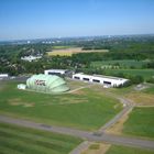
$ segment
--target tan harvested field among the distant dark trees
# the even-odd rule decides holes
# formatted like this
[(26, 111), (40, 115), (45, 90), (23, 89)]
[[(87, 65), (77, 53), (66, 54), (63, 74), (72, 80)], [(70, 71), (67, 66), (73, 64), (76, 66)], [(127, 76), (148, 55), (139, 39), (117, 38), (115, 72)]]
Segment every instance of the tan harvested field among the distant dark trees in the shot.
[(88, 50), (82, 51), (81, 47), (70, 47), (70, 48), (56, 48), (52, 52), (47, 52), (48, 56), (72, 56), (77, 53), (95, 53), (95, 52), (109, 52), (108, 50)]

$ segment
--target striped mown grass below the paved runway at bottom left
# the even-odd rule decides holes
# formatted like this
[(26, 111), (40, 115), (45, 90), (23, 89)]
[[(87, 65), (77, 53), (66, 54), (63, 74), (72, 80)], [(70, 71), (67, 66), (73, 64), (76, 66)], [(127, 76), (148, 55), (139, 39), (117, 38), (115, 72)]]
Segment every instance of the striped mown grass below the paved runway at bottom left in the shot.
[(68, 154), (80, 139), (0, 123), (1, 154)]

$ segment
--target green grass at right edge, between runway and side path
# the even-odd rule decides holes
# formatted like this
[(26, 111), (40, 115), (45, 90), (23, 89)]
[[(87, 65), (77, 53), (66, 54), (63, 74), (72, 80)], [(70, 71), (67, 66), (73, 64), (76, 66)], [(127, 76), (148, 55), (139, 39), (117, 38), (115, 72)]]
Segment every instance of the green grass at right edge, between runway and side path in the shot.
[(154, 138), (154, 108), (134, 108), (124, 123), (123, 133)]

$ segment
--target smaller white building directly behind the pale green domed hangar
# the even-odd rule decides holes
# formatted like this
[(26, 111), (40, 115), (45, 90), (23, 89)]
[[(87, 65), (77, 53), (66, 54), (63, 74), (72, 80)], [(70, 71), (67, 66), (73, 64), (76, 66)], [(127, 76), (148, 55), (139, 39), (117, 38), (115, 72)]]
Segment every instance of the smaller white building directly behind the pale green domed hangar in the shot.
[(72, 77), (73, 76), (73, 72), (68, 70), (68, 69), (47, 69), (44, 70), (45, 75), (57, 75), (57, 76), (67, 76), (67, 77)]

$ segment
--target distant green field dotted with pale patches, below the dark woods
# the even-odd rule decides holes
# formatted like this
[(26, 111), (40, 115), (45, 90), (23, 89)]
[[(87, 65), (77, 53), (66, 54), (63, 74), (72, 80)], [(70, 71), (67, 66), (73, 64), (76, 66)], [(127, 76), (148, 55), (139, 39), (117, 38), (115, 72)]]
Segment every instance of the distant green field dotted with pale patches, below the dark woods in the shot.
[(102, 62), (92, 62), (91, 66), (94, 67), (106, 67), (111, 68), (119, 66), (120, 68), (142, 68), (143, 65), (147, 64), (147, 61), (134, 61), (134, 59), (123, 59), (123, 61), (102, 61)]

